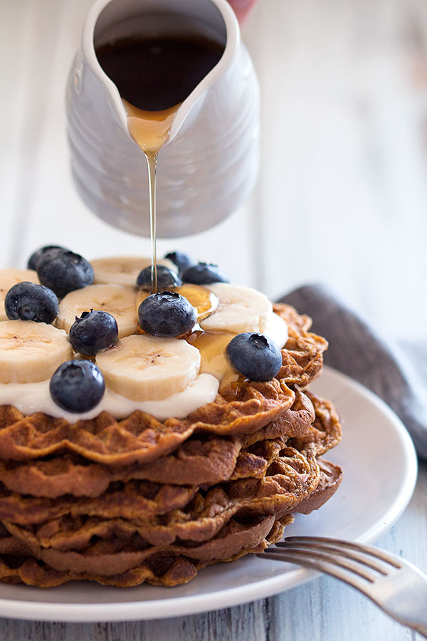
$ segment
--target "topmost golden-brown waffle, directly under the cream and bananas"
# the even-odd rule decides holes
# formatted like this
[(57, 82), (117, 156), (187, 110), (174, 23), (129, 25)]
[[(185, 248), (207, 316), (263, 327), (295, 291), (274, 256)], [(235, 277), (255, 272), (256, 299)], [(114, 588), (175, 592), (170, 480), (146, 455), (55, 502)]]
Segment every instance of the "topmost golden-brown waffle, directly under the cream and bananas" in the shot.
[(14, 407), (2, 406), (0, 457), (24, 461), (65, 450), (94, 462), (120, 466), (153, 462), (194, 432), (251, 434), (278, 419), (289, 420), (292, 426), (295, 415), (289, 410), (295, 402), (293, 386), (308, 385), (320, 372), (327, 343), (310, 333), (310, 319), (290, 306), (278, 305), (275, 311), (288, 323), (289, 338), (282, 350), (282, 368), (273, 380), (253, 382), (240, 377), (221, 387), (214, 402), (185, 419), (160, 421), (137, 411), (117, 421), (102, 412), (95, 419), (70, 423), (40, 412), (23, 416)]

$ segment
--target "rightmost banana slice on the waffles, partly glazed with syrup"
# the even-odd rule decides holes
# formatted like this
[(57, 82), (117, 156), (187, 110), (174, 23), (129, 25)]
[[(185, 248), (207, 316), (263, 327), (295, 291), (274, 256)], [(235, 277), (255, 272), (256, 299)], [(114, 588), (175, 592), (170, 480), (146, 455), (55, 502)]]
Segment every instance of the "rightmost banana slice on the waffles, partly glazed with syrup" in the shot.
[(214, 283), (209, 289), (219, 302), (216, 311), (201, 320), (206, 332), (260, 332), (273, 313), (267, 296), (251, 287)]

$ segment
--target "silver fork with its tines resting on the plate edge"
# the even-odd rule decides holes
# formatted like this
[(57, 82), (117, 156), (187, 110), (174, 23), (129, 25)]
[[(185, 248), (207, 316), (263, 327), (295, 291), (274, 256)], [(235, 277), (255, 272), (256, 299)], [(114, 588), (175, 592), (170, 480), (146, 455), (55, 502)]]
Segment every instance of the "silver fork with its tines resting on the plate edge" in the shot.
[(399, 556), (320, 536), (288, 536), (257, 556), (297, 563), (339, 578), (427, 638), (427, 576)]

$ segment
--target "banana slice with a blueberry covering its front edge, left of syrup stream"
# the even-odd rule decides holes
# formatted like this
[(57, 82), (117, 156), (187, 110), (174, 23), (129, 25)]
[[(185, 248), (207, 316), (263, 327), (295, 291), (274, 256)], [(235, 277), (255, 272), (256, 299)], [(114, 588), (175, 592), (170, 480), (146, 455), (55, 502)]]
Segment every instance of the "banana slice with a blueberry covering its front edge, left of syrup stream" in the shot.
[(89, 285), (70, 291), (60, 301), (56, 326), (69, 332), (76, 316), (84, 311), (106, 311), (117, 320), (119, 338), (137, 330), (135, 314), (135, 291), (122, 285)]

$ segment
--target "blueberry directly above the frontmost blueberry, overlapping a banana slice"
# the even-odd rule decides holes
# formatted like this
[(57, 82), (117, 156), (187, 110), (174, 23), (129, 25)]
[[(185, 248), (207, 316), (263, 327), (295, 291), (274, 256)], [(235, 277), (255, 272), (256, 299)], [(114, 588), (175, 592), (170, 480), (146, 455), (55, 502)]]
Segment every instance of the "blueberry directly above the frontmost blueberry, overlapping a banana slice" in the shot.
[(75, 352), (95, 356), (101, 350), (114, 347), (119, 340), (117, 321), (105, 311), (83, 312), (80, 318), (75, 317), (68, 339)]

